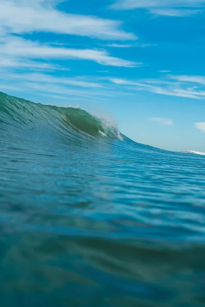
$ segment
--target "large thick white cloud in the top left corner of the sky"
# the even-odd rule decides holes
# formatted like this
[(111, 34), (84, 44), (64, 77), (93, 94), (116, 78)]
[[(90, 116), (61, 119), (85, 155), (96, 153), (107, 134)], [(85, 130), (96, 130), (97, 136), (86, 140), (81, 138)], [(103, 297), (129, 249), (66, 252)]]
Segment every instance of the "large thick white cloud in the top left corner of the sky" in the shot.
[[(8, 33), (52, 32), (100, 39), (135, 39), (135, 35), (120, 29), (116, 20), (95, 16), (66, 14), (50, 0), (1, 0), (1, 29)], [(1, 32), (0, 29), (0, 32)]]

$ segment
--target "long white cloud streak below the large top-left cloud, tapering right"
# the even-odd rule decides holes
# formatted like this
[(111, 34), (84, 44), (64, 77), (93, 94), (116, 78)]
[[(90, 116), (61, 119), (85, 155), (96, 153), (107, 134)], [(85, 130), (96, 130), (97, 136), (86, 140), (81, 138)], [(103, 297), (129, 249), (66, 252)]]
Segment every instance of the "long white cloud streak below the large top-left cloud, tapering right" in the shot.
[(112, 57), (105, 50), (71, 49), (53, 47), (17, 36), (0, 40), (0, 57), (13, 59), (81, 59), (95, 61), (101, 65), (134, 67), (137, 63)]

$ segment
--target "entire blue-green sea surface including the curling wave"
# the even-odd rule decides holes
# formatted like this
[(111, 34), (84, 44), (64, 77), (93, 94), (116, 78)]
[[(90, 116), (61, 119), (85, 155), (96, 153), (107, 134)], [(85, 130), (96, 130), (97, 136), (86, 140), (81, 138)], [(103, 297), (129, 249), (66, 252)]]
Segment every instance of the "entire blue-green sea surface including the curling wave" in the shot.
[(0, 93), (1, 306), (201, 306), (205, 160)]

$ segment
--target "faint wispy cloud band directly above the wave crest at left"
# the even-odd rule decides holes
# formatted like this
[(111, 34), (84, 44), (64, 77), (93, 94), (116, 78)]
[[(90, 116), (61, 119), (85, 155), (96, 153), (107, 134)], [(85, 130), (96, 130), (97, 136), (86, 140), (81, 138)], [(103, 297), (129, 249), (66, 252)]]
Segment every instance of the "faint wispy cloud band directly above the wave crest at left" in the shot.
[[(52, 72), (51, 72), (52, 73)], [(39, 96), (73, 101), (108, 101), (127, 93), (109, 86), (95, 76), (57, 77), (48, 72), (19, 73), (0, 71), (0, 91), (33, 93)]]

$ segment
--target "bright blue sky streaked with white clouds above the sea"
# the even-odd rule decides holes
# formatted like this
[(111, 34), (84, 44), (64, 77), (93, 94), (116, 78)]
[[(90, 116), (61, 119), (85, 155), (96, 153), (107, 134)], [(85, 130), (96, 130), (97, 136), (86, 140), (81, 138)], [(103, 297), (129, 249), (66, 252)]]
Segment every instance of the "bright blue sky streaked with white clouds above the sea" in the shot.
[(205, 151), (205, 0), (1, 0), (0, 91)]

